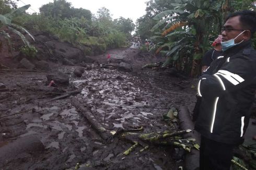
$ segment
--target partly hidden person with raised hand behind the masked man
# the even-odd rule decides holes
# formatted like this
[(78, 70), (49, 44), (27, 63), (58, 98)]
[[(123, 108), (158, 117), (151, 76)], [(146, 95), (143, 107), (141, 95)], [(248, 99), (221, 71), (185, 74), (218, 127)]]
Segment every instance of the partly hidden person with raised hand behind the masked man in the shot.
[(210, 66), (213, 60), (217, 59), (222, 55), (222, 35), (218, 35), (218, 38), (213, 42), (212, 46), (214, 47), (212, 50), (209, 50), (205, 53), (202, 60), (202, 73)]

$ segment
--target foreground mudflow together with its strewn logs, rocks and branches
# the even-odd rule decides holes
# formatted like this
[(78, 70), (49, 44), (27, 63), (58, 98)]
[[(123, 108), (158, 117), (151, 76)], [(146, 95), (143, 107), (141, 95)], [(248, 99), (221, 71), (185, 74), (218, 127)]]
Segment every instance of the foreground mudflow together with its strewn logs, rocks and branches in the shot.
[[(162, 114), (175, 105), (170, 101), (176, 98), (189, 103), (187, 96), (159, 88), (154, 77), (139, 77), (144, 76), (141, 73), (133, 75), (91, 64), (77, 76), (74, 73), (77, 67), (61, 66), (51, 72), (4, 72), (1, 87), (15, 91), (0, 93), (1, 134), (4, 134), (1, 143), (8, 147), (11, 141), (32, 135), (44, 147), (11, 157), (2, 168), (183, 166), (184, 153), (178, 154), (189, 151), (187, 142), (192, 140), (182, 140), (180, 133), (186, 131), (178, 132), (178, 128), (165, 122)], [(168, 86), (179, 89), (169, 83)], [(177, 155), (173, 155), (174, 151)], [(22, 156), (23, 161), (18, 159)]]

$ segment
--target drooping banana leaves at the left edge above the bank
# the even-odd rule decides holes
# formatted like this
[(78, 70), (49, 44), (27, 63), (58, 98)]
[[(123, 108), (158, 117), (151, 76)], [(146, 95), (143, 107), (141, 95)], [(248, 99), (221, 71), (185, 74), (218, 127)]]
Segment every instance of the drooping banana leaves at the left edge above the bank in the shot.
[[(17, 35), (19, 35), (19, 37), (21, 38), (21, 40), (24, 42), (25, 45), (30, 47), (30, 43), (29, 41), (26, 39), (26, 37), (24, 36), (24, 34), (22, 34), (21, 32), (25, 32), (29, 35), (29, 37), (34, 41), (33, 36), (23, 27), (15, 24), (12, 22), (12, 19), (16, 16), (21, 15), (22, 13), (24, 13), (28, 8), (30, 7), (30, 5), (25, 5), (22, 6), (18, 9), (15, 9), (13, 11), (11, 11), (8, 14), (5, 15), (0, 15), (0, 22), (1, 22), (1, 28), (0, 28), (0, 33), (4, 34), (5, 37), (8, 39), (9, 41), (9, 34), (7, 32), (5, 32), (5, 28), (7, 28), (8, 30), (16, 33)], [(21, 32), (20, 32), (21, 31)]]

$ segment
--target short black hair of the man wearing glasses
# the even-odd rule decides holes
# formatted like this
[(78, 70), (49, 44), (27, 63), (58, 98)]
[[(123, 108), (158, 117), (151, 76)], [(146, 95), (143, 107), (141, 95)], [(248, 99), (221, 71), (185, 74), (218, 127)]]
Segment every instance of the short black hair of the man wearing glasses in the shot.
[(256, 31), (256, 13), (255, 11), (252, 10), (242, 10), (238, 11), (236, 13), (230, 14), (226, 21), (229, 18), (240, 16), (239, 20), (242, 23), (242, 26), (244, 29), (250, 30), (251, 31), (251, 36), (255, 33)]

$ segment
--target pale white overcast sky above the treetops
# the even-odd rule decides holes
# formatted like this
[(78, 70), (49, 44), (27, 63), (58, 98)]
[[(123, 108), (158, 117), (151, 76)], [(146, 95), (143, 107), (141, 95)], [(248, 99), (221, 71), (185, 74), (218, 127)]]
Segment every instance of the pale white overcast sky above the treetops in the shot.
[[(146, 4), (149, 0), (66, 0), (70, 2), (75, 8), (84, 8), (91, 11), (92, 14), (96, 14), (98, 9), (106, 7), (109, 9), (113, 19), (119, 17), (131, 18), (135, 23), (139, 17), (146, 14)], [(27, 10), (28, 13), (39, 13), (39, 8), (53, 2), (53, 0), (19, 0), (17, 2), (18, 7), (30, 4), (31, 7)]]

